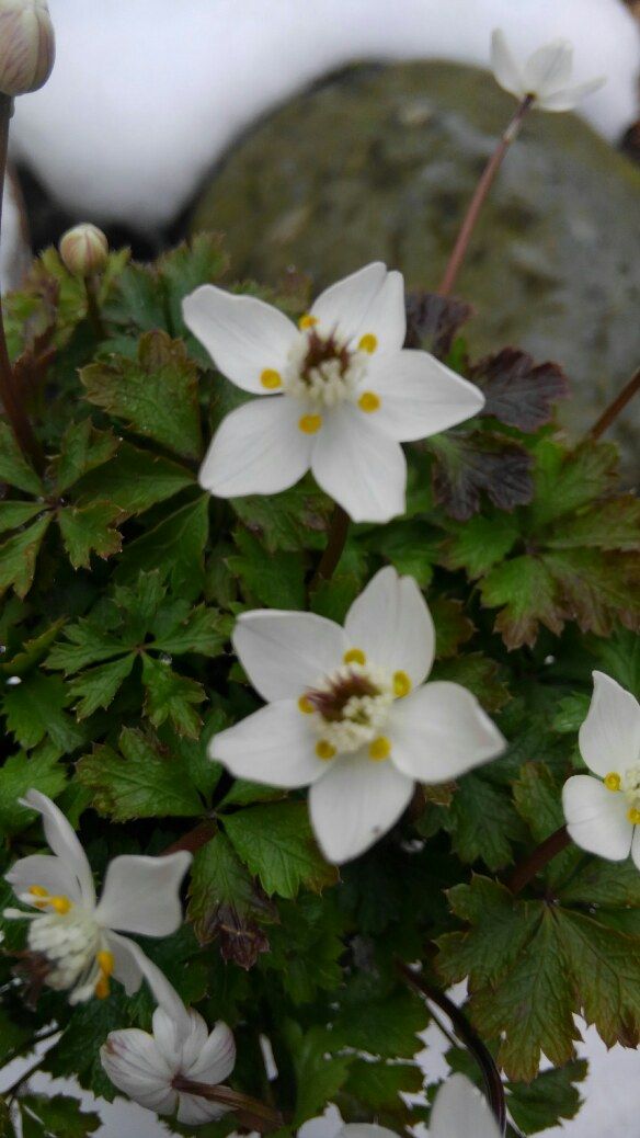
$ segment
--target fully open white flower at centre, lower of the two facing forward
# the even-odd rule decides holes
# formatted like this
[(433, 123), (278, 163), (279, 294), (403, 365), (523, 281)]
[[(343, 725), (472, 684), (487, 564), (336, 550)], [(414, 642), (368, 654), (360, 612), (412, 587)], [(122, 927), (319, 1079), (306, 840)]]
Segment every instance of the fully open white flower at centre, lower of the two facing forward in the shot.
[(233, 644), (268, 704), (216, 735), (209, 754), (241, 778), (310, 784), (330, 861), (348, 861), (387, 833), (416, 780), (446, 782), (504, 748), (466, 688), (424, 684), (433, 622), (415, 580), (391, 567), (357, 597), (344, 628), (310, 612), (246, 612)]

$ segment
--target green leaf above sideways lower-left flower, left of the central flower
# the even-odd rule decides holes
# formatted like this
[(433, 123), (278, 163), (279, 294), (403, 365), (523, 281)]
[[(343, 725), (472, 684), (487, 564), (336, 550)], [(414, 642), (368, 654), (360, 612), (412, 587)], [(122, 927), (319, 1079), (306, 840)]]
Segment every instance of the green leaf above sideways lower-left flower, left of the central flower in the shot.
[(200, 795), (180, 757), (130, 727), (120, 732), (118, 747), (119, 754), (110, 747), (95, 747), (77, 764), (77, 776), (92, 791), (99, 814), (128, 822), (202, 813)]

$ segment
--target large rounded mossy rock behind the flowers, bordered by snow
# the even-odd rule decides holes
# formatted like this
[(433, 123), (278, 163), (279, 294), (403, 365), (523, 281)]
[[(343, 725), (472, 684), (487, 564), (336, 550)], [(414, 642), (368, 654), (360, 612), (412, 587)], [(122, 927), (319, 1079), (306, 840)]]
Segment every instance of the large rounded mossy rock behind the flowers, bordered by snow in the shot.
[[(435, 289), (514, 101), (450, 64), (355, 67), (271, 115), (226, 157), (192, 228), (226, 234), (235, 274), (314, 289), (380, 257)], [(573, 115), (532, 114), (487, 203), (457, 291), (474, 353), (563, 363), (588, 428), (640, 355), (640, 172)], [(630, 452), (627, 412), (617, 437)], [(638, 417), (635, 417), (638, 422)]]

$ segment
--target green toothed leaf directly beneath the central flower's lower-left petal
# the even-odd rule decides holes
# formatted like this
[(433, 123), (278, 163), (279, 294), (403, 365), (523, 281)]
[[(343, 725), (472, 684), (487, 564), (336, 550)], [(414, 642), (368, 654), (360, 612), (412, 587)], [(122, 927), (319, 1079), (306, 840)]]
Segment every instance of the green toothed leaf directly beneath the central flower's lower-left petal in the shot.
[(293, 898), (301, 885), (315, 892), (338, 881), (315, 843), (301, 802), (255, 806), (224, 818), (233, 847), (271, 897)]

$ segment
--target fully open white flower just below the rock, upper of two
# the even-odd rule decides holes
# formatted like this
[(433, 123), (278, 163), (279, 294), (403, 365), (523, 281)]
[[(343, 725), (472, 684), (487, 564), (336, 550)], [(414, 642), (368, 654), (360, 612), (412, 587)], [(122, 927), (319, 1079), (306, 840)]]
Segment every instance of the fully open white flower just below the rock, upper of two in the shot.
[(276, 494), (310, 468), (354, 521), (389, 521), (405, 511), (400, 443), (484, 405), (433, 356), (402, 351), (402, 277), (380, 263), (323, 292), (299, 328), (213, 284), (188, 296), (183, 311), (219, 371), (264, 396), (227, 415), (214, 437), (200, 483), (217, 497)]

